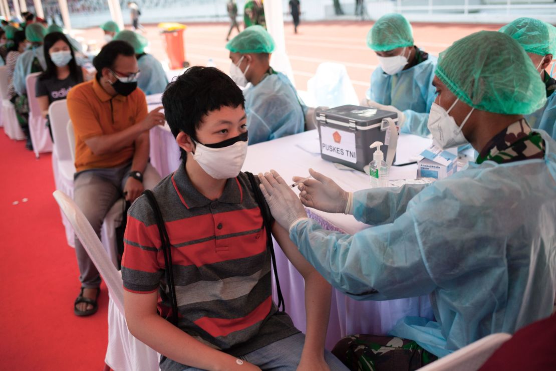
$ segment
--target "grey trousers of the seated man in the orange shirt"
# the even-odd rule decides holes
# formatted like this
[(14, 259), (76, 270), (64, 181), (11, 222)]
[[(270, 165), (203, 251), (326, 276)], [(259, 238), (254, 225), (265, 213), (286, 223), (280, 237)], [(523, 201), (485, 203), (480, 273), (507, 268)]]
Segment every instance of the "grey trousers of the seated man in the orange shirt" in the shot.
[[(131, 163), (112, 169), (92, 169), (78, 172), (73, 180), (73, 200), (79, 206), (93, 230), (100, 238), (102, 221), (112, 205), (122, 197)], [(151, 164), (143, 174), (143, 186), (152, 189), (160, 181), (160, 175)], [(75, 238), (75, 254), (79, 266), (81, 286), (97, 288), (101, 284), (98, 270), (81, 241)]]

